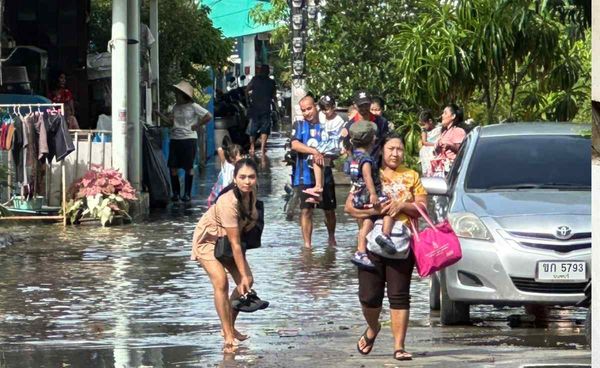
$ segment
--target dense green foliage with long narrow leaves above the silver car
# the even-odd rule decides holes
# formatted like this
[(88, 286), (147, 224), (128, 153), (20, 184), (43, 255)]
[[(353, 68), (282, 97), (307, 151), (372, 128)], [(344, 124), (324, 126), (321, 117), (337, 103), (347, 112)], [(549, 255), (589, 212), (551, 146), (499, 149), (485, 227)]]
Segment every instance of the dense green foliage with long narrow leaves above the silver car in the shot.
[[(289, 51), (287, 2), (272, 3), (255, 19), (281, 22), (275, 40)], [(307, 40), (316, 94), (349, 102), (364, 88), (384, 97), (396, 119), (457, 102), (484, 124), (589, 121), (589, 0), (321, 3)]]

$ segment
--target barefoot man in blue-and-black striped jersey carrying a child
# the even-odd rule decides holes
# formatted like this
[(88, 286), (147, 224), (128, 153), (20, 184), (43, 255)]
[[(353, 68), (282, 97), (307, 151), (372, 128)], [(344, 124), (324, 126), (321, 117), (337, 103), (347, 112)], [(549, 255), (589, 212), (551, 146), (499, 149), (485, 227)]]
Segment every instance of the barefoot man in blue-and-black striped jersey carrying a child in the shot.
[[(300, 110), (302, 110), (303, 121), (294, 123), (292, 129), (292, 150), (298, 153), (294, 165), (293, 186), (300, 189), (300, 226), (302, 227), (302, 237), (306, 248), (312, 247), (313, 230), (313, 210), (315, 204), (307, 202), (310, 195), (303, 192), (304, 189), (312, 188), (315, 185), (315, 177), (312, 168), (308, 162), (309, 156), (317, 165), (323, 165), (325, 159), (323, 154), (317, 151), (317, 145), (321, 141), (321, 124), (319, 124), (319, 112), (315, 100), (311, 96), (306, 96), (300, 100)], [(316, 205), (317, 208), (325, 212), (325, 225), (329, 234), (328, 243), (331, 246), (336, 245), (335, 241), (335, 183), (331, 167), (325, 167), (324, 185), (321, 202)]]

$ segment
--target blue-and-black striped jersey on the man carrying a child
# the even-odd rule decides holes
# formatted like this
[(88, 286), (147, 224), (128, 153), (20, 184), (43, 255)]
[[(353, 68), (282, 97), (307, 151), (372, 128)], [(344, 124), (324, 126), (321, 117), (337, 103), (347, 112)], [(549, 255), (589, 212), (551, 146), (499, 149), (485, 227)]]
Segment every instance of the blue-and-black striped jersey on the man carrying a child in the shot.
[[(310, 123), (306, 120), (296, 121), (292, 128), (292, 141), (299, 141), (308, 147), (316, 148), (321, 142), (322, 126), (320, 123)], [(308, 165), (310, 155), (300, 153), (296, 155), (294, 165), (293, 186), (315, 184), (314, 173)]]

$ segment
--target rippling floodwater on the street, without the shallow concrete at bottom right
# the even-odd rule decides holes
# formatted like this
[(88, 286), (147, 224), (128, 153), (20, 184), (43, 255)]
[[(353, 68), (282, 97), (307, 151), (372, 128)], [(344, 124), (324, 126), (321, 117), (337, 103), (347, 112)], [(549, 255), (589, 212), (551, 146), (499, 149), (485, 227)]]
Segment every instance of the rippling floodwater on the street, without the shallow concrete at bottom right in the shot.
[[(281, 147), (283, 141), (275, 143)], [(283, 213), (290, 168), (282, 157), (283, 149), (276, 148), (259, 158), (266, 227), (263, 247), (249, 251), (248, 258), (259, 295), (272, 304), (262, 313), (240, 316), (239, 329), (252, 335), (241, 352), (223, 356), (212, 287), (189, 260), (194, 227), (206, 210), (206, 203), (196, 199), (130, 226), (4, 228), (20, 241), (0, 249), (0, 359), (5, 360), (0, 366), (247, 366), (260, 362), (256, 351), (286, 349), (279, 336), (360, 325), (356, 269), (349, 262), (356, 223), (340, 208), (338, 246), (328, 247), (322, 212), (316, 211), (315, 246), (304, 249), (297, 217), (285, 221)], [(215, 166), (197, 176), (196, 198), (206, 198)], [(337, 188), (339, 203), (346, 192), (346, 187)], [(411, 323), (439, 324), (435, 314), (430, 318), (427, 280), (415, 277), (412, 293)], [(584, 317), (578, 310), (568, 311), (556, 319)], [(507, 319), (513, 314), (524, 311), (472, 308), (476, 325), (491, 329), (490, 336), (501, 336), (497, 341), (526, 344), (510, 339)], [(475, 341), (468, 337), (473, 330), (464, 330), (466, 344)], [(547, 335), (541, 329), (535, 333)], [(569, 339), (532, 341), (546, 346)]]

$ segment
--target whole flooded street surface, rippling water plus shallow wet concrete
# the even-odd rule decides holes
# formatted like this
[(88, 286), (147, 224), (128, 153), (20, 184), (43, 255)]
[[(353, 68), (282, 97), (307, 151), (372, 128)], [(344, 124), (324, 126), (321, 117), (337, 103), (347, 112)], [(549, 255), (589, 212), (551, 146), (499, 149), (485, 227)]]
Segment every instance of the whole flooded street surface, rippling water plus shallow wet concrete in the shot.
[[(248, 259), (255, 289), (271, 306), (240, 316), (238, 329), (252, 338), (235, 356), (221, 352), (212, 287), (189, 260), (206, 210), (201, 198), (217, 174), (211, 162), (197, 177), (191, 205), (155, 211), (141, 223), (0, 229), (14, 240), (0, 247), (0, 367), (395, 366), (388, 325), (372, 354), (356, 352), (364, 329), (349, 262), (356, 224), (340, 208), (338, 246), (330, 248), (317, 212), (314, 249), (302, 249), (297, 218), (286, 221), (283, 213), (290, 169), (281, 163), (282, 139), (273, 140), (269, 157), (260, 160), (263, 247)], [(347, 190), (337, 188), (338, 202)], [(397, 365), (589, 365), (584, 313), (553, 309), (542, 325), (515, 324), (526, 320), (523, 308), (477, 306), (473, 326), (442, 328), (429, 311), (428, 280), (415, 275), (407, 337), (415, 360)]]

